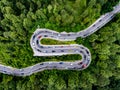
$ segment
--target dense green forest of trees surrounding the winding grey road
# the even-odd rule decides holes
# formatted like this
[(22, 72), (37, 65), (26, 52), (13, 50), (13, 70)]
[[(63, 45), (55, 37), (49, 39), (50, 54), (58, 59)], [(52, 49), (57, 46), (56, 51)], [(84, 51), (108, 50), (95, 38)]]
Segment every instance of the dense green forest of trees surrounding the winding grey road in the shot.
[[(118, 2), (0, 0), (0, 63), (22, 68), (43, 61), (81, 59), (79, 55), (34, 57), (31, 35), (38, 25), (58, 32), (78, 32), (111, 11)], [(57, 41), (50, 43), (53, 42)], [(90, 49), (92, 62), (87, 69), (46, 70), (28, 77), (0, 73), (0, 90), (120, 90), (120, 14), (91, 36), (72, 42)]]

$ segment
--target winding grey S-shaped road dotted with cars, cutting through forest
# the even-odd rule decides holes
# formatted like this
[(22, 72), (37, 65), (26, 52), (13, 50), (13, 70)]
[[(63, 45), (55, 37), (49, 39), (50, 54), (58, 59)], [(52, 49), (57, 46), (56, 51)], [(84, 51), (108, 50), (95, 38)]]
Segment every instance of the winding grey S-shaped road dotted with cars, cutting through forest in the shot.
[(59, 70), (83, 70), (86, 69), (91, 62), (91, 53), (88, 48), (83, 45), (72, 44), (72, 45), (43, 45), (40, 40), (43, 38), (51, 38), (59, 41), (71, 41), (76, 40), (76, 38), (85, 38), (114, 18), (114, 16), (120, 12), (120, 5), (116, 5), (114, 10), (102, 15), (98, 20), (96, 20), (91, 26), (77, 33), (67, 33), (67, 32), (56, 32), (53, 30), (41, 28), (37, 29), (30, 39), (30, 45), (33, 49), (34, 56), (61, 56), (67, 54), (80, 54), (82, 56), (81, 60), (75, 62), (42, 62), (29, 66), (22, 69), (13, 68), (10, 66), (5, 66), (0, 64), (0, 72), (4, 74), (14, 75), (14, 76), (29, 76), (33, 73), (40, 72), (43, 70), (59, 69)]

